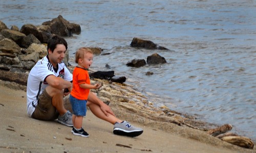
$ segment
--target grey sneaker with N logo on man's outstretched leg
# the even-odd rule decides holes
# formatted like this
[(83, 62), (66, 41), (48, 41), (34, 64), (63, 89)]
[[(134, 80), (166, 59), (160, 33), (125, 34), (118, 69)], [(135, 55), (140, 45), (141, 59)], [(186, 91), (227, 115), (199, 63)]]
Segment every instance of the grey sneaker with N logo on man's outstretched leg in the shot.
[(115, 135), (137, 137), (143, 133), (143, 130), (140, 129), (139, 127), (131, 125), (127, 121), (122, 121), (121, 123), (116, 122), (114, 124), (113, 133)]

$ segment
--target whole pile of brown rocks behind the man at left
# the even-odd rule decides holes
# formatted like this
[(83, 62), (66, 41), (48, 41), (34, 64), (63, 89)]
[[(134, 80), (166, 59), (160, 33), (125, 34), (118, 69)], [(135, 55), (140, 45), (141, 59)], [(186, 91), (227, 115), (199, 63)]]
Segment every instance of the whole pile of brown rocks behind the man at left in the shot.
[[(61, 15), (38, 26), (24, 24), (20, 30), (16, 25), (9, 29), (0, 21), (0, 63), (5, 69), (30, 70), (38, 59), (47, 55), (46, 43), (52, 35), (67, 37), (80, 33), (79, 24), (70, 23)], [(68, 64), (68, 53), (66, 57)]]

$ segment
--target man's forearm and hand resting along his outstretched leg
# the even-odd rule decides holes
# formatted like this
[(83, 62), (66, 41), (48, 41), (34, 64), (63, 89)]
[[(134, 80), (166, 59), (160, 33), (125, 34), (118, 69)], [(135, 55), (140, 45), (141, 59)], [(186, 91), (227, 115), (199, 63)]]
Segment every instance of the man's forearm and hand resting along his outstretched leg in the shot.
[(103, 101), (101, 101), (96, 94), (94, 94), (93, 92), (89, 92), (88, 95), (88, 101), (90, 101), (91, 103), (94, 103), (96, 105), (98, 105), (101, 109), (101, 111), (106, 115), (109, 116), (109, 114), (112, 114), (113, 116), (115, 116), (115, 114), (112, 112), (112, 110), (110, 109), (110, 107), (108, 105), (106, 105), (105, 103), (103, 103)]

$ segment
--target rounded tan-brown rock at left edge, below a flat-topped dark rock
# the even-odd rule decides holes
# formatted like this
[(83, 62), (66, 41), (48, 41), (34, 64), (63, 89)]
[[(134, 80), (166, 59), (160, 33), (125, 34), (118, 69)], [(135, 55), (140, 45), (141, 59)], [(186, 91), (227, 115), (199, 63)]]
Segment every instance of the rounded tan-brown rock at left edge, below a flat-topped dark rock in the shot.
[(20, 53), (20, 47), (13, 40), (9, 38), (4, 38), (3, 40), (0, 40), (0, 50), (3, 53), (8, 53), (8, 54)]

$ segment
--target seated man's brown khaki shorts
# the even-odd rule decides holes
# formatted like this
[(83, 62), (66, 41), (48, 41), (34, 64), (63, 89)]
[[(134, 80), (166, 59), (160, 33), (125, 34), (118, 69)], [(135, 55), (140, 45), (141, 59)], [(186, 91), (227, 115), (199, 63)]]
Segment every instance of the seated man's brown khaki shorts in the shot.
[[(72, 112), (69, 95), (63, 97), (63, 105), (65, 109)], [(43, 91), (39, 95), (35, 111), (31, 117), (39, 120), (55, 120), (58, 118), (58, 115), (58, 111), (52, 105), (52, 97), (46, 92), (46, 90)]]

